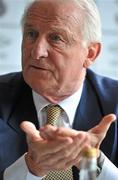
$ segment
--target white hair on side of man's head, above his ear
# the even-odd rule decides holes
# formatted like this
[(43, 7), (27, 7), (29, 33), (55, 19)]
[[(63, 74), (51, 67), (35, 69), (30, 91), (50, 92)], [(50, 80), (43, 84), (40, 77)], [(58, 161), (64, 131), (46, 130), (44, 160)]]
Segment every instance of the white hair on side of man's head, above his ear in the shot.
[[(101, 42), (101, 19), (98, 7), (94, 0), (76, 0), (79, 10), (82, 11), (83, 26), (81, 25), (81, 35), (85, 41)], [(81, 22), (81, 21), (80, 21)]]

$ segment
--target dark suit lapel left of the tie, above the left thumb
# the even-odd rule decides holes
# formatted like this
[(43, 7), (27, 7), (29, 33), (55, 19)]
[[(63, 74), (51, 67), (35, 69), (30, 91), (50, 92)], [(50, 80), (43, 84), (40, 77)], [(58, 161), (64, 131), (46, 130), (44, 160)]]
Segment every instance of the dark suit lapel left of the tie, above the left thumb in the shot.
[(20, 94), (17, 95), (14, 105), (12, 105), (12, 112), (9, 116), (8, 124), (17, 132), (21, 132), (20, 123), (24, 120), (33, 122), (35, 126), (39, 128), (32, 91), (25, 83), (22, 84)]

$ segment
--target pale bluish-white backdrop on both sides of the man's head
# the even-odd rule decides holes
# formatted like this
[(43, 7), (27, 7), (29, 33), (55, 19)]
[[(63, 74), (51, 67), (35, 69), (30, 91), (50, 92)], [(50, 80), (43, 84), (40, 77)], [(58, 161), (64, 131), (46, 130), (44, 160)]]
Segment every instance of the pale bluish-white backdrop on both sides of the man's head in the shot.
[[(0, 74), (21, 70), (20, 19), (31, 0), (0, 0)], [(118, 0), (96, 0), (102, 18), (103, 49), (92, 66), (118, 79)]]

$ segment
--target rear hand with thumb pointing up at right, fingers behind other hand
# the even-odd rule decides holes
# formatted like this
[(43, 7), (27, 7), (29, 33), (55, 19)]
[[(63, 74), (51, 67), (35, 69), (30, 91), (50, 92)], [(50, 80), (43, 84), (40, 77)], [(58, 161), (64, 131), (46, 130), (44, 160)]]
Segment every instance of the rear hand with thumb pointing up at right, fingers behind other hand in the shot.
[[(81, 153), (82, 151), (84, 151), (86, 147), (91, 146), (98, 149), (98, 157), (99, 157), (100, 145), (103, 139), (105, 138), (111, 123), (114, 122), (115, 120), (116, 120), (115, 114), (106, 115), (102, 118), (101, 122), (97, 126), (93, 127), (88, 132), (76, 131), (76, 130), (67, 129), (64, 127), (55, 128), (53, 126), (46, 125), (45, 127), (40, 129), (40, 134), (42, 138), (44, 139), (46, 138), (53, 139), (53, 138), (56, 138), (57, 136), (72, 137), (73, 138), (72, 145), (76, 146), (75, 155), (77, 154), (75, 158), (76, 161), (73, 163), (75, 163), (75, 165), (79, 168)], [(81, 141), (81, 146), (80, 145), (77, 146), (77, 142), (76, 142), (77, 137), (78, 137), (78, 143), (80, 143)], [(72, 163), (71, 161), (68, 162), (68, 164), (71, 164), (71, 163)]]

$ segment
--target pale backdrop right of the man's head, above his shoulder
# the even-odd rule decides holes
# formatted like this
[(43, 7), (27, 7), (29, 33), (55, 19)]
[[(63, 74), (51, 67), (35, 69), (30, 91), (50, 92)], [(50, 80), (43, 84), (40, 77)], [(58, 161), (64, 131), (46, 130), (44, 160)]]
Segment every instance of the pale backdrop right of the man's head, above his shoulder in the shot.
[(103, 47), (92, 68), (118, 79), (118, 0), (97, 0), (97, 4), (102, 19)]

